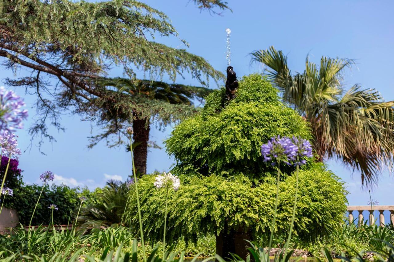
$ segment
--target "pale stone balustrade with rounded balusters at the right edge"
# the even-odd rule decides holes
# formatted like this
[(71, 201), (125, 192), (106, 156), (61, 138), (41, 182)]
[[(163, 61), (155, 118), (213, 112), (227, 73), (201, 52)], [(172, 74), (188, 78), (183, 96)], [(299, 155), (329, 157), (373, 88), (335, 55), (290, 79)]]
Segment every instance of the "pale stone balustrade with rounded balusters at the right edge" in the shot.
[(359, 217), (359, 225), (361, 224), (361, 221), (363, 220), (364, 216), (362, 215), (363, 211), (368, 211), (369, 212), (369, 224), (375, 224), (377, 219), (375, 220), (374, 217), (374, 211), (379, 212), (379, 225), (381, 227), (385, 226), (385, 216), (383, 212), (387, 210), (390, 212), (390, 221), (391, 224), (394, 225), (394, 206), (348, 206), (348, 212), (349, 212), (349, 222), (353, 222), (354, 220), (354, 215), (353, 211), (358, 211), (358, 217)]

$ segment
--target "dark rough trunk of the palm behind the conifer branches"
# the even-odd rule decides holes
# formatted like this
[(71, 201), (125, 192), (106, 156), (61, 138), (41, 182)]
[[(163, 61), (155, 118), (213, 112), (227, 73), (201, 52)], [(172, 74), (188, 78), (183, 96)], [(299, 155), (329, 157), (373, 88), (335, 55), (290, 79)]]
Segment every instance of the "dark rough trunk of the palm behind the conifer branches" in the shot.
[(147, 154), (149, 141), (149, 119), (133, 120), (133, 139), (134, 143), (138, 143), (134, 148), (134, 164), (136, 165), (136, 172), (144, 175), (147, 173)]

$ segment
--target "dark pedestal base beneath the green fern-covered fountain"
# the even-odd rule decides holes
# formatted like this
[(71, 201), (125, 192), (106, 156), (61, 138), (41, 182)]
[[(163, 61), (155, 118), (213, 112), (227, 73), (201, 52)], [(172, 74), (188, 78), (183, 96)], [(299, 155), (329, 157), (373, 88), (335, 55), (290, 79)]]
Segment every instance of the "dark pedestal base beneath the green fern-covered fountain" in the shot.
[(220, 232), (219, 236), (216, 236), (216, 254), (222, 258), (232, 258), (230, 253), (233, 253), (246, 260), (248, 255), (246, 247), (249, 246), (249, 243), (245, 240), (252, 240), (249, 230), (245, 232), (245, 228), (239, 227), (237, 230), (231, 229), (227, 233), (226, 223), (225, 229)]

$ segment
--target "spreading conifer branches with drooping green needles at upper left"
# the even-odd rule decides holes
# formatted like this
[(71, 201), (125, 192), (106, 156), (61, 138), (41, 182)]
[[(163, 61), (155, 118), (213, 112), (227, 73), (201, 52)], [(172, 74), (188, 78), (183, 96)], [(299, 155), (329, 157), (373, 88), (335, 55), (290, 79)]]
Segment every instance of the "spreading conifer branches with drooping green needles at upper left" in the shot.
[[(130, 100), (130, 95), (118, 95), (97, 84), (111, 67), (123, 68), (130, 79), (135, 79), (136, 69), (152, 79), (167, 75), (171, 81), (189, 74), (205, 87), (210, 79), (223, 79), (202, 57), (154, 42), (155, 37), (169, 36), (178, 37), (169, 18), (134, 0), (0, 2), (3, 65), (14, 70), (23, 66), (32, 73), (7, 79), (7, 84), (24, 86), (37, 96), (42, 118), (30, 133), (49, 140), (54, 137), (48, 134), (46, 122), (62, 129), (60, 115), (65, 110), (103, 120), (100, 124), (108, 130), (104, 136), (119, 132), (119, 125), (101, 119), (103, 111), (97, 106), (102, 102), (115, 108)], [(180, 44), (188, 46), (182, 39)], [(112, 120), (116, 122), (117, 116)]]

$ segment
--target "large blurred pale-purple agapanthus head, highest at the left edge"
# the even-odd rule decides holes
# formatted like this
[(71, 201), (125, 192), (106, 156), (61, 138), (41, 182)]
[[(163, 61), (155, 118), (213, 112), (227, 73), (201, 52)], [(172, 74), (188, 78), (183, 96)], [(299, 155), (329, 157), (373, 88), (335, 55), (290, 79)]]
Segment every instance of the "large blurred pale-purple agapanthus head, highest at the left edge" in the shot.
[(23, 99), (13, 91), (0, 87), (0, 131), (23, 128), (22, 120), (28, 117)]

